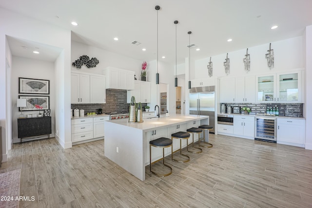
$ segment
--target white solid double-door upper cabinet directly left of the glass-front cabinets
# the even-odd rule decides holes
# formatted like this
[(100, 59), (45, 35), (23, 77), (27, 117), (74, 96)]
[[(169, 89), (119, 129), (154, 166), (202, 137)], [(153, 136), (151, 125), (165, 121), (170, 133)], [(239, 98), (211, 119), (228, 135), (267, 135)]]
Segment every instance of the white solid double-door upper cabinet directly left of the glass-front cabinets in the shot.
[(235, 78), (235, 103), (255, 102), (255, 77)]

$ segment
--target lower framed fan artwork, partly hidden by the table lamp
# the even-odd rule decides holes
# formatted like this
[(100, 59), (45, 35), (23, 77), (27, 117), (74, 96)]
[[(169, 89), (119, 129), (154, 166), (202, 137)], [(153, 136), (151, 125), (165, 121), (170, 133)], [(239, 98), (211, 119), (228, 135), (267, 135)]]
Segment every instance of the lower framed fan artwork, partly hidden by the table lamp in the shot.
[(47, 110), (50, 105), (50, 96), (36, 96), (36, 95), (20, 95), (19, 98), (26, 99), (26, 107), (20, 107), (19, 111), (25, 110)]

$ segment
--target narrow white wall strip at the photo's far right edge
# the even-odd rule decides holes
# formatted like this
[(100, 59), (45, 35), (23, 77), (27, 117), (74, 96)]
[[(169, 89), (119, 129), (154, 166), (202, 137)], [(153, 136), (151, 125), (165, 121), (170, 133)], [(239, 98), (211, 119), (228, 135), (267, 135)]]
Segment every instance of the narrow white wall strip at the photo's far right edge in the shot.
[(312, 150), (312, 25), (306, 27), (306, 47), (305, 47), (305, 61), (306, 61), (306, 97), (305, 97), (305, 115), (306, 117), (306, 149)]

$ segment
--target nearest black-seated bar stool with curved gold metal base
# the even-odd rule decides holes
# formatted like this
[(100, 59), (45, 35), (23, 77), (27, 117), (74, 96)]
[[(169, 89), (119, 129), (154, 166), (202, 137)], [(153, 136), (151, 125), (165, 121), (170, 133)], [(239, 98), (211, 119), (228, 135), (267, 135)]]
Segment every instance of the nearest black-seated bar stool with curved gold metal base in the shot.
[[(162, 158), (160, 158), (159, 160), (154, 161), (153, 163), (152, 163), (152, 152), (151, 152), (152, 146), (162, 148)], [(168, 138), (165, 138), (165, 137), (160, 137), (160, 138), (158, 138), (156, 140), (150, 141), (150, 172), (153, 173), (154, 175), (160, 176), (160, 177), (164, 177), (164, 176), (168, 176), (168, 175), (170, 175), (172, 173), (171, 166), (168, 166), (168, 165), (165, 164), (165, 148), (166, 147), (170, 147), (170, 146), (172, 146), (172, 140), (168, 139)], [(152, 171), (152, 164), (160, 161), (161, 159), (162, 159), (162, 164), (164, 166), (170, 168), (170, 172), (169, 173), (158, 174), (158, 173)]]

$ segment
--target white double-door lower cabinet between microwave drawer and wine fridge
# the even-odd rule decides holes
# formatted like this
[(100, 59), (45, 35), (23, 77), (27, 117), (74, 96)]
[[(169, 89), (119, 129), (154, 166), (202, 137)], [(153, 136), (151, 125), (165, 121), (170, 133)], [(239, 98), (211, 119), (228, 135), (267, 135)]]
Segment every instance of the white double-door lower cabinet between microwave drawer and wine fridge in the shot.
[(254, 139), (254, 116), (234, 116), (233, 134)]

